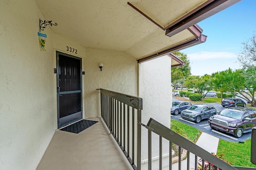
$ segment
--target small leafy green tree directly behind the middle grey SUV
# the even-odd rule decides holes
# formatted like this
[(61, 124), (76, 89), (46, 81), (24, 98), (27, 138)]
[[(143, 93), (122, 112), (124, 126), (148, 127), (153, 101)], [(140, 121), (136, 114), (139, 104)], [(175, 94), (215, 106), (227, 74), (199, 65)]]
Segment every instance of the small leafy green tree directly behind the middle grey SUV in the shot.
[(208, 91), (213, 89), (211, 76), (205, 74), (204, 76), (189, 76), (186, 78), (184, 84), (187, 88), (194, 89), (198, 94), (205, 95)]

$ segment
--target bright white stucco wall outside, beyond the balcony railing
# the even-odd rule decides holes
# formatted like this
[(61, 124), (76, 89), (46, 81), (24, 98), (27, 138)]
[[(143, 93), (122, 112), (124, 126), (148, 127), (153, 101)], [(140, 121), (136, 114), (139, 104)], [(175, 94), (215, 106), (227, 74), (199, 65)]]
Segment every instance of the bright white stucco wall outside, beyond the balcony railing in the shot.
[[(170, 128), (170, 108), (172, 102), (171, 59), (160, 57), (140, 64), (140, 91), (143, 98), (142, 123), (147, 124), (150, 118)], [(141, 159), (148, 158), (148, 129), (142, 127)], [(169, 142), (163, 139), (162, 154), (169, 153)], [(159, 156), (159, 136), (152, 133), (152, 158)], [(163, 160), (163, 164), (168, 157)], [(148, 164), (142, 164), (147, 169)], [(159, 168), (159, 160), (152, 162), (152, 169)]]

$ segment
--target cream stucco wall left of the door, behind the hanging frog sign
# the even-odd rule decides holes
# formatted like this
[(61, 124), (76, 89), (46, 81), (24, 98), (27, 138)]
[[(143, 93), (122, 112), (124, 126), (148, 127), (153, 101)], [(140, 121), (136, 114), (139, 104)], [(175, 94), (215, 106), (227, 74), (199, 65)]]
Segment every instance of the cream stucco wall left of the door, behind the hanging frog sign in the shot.
[(33, 170), (56, 127), (52, 33), (41, 51), (34, 0), (1, 1), (0, 16), (0, 169)]

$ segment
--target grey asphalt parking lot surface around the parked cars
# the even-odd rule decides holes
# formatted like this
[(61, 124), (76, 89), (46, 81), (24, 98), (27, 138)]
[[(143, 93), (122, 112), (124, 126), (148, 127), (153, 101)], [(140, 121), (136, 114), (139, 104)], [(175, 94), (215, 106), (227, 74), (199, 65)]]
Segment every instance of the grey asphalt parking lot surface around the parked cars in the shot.
[[(172, 101), (177, 101), (175, 98), (172, 98)], [(193, 104), (193, 103), (192, 103)], [(208, 103), (208, 105), (212, 105), (216, 108), (217, 111), (222, 111), (223, 109), (225, 109), (225, 107), (222, 107), (221, 104), (218, 103)], [(232, 141), (232, 142), (244, 142), (247, 139), (251, 138), (251, 132), (249, 133), (244, 133), (242, 135), (242, 137), (240, 138), (236, 138), (233, 135), (228, 135), (228, 134), (224, 134), (224, 133), (220, 133), (218, 131), (214, 131), (210, 128), (210, 125), (208, 125), (208, 119), (206, 120), (202, 120), (200, 123), (194, 123), (191, 121), (187, 121), (184, 120), (180, 117), (180, 114), (178, 115), (171, 115), (171, 119), (175, 119), (177, 121), (180, 121), (182, 123), (185, 123), (187, 125), (190, 125), (192, 127), (195, 127), (197, 129), (199, 129), (200, 131), (203, 131), (205, 133), (208, 133), (210, 135), (213, 135), (215, 137), (218, 137), (220, 139), (224, 139), (226, 141)], [(172, 125), (172, 121), (171, 121), (171, 125)]]

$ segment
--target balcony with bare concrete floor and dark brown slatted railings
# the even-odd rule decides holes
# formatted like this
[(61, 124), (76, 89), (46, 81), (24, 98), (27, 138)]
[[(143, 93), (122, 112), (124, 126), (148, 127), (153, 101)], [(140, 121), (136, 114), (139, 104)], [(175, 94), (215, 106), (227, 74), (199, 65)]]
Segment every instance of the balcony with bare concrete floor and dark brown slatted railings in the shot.
[[(218, 168), (222, 170), (256, 169), (230, 166), (154, 119), (150, 119), (148, 124), (144, 125), (141, 123), (141, 98), (104, 89), (100, 89), (100, 91), (102, 118), (90, 119), (98, 121), (98, 123), (78, 134), (57, 130), (37, 170), (143, 169), (141, 168), (141, 128), (148, 129), (147, 160), (152, 160), (152, 133), (159, 137), (159, 155), (163, 155), (163, 141), (168, 141), (170, 144), (170, 153), (172, 152), (172, 143), (178, 145), (179, 150), (182, 148), (187, 150), (186, 160), (181, 160), (182, 153), (179, 152), (179, 162), (175, 166), (170, 163), (171, 155), (168, 156), (167, 166), (166, 160), (163, 160), (162, 156), (158, 156), (158, 169), (172, 170), (174, 167), (175, 170), (197, 169), (197, 162), (200, 158), (214, 164), (213, 168), (210, 167), (209, 170)], [(148, 161), (147, 164), (148, 169), (152, 169), (152, 161)], [(202, 164), (203, 166), (207, 165), (204, 161)]]

